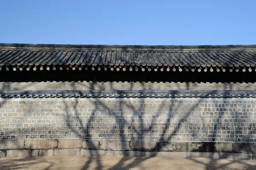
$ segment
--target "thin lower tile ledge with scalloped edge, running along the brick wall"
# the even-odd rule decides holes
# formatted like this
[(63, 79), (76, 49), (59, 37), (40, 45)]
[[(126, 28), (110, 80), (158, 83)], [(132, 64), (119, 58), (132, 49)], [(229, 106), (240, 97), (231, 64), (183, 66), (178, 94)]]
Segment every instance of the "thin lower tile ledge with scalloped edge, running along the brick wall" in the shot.
[(0, 98), (256, 98), (255, 90), (0, 91)]

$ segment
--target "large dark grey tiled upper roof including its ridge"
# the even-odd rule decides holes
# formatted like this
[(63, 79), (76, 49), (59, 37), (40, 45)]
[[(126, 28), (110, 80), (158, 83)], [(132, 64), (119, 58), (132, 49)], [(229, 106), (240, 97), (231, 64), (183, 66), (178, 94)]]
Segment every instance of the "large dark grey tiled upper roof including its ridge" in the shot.
[(110, 46), (0, 43), (0, 66), (255, 67), (256, 45)]

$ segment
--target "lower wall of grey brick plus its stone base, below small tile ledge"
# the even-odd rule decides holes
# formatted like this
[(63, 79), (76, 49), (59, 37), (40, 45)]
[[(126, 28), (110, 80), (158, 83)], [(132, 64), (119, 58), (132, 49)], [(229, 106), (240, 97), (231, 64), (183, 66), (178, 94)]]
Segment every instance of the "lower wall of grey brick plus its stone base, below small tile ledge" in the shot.
[(0, 153), (253, 158), (255, 112), (254, 98), (1, 98)]

